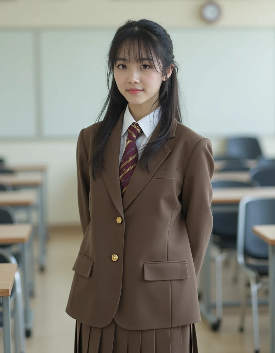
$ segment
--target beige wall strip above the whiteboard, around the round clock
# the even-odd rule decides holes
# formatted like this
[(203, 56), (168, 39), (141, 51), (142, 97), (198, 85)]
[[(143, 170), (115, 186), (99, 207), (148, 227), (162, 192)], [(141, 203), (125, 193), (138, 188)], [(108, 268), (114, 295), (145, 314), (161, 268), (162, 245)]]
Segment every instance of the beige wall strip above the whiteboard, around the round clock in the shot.
[[(129, 18), (150, 18), (169, 27), (209, 26), (199, 0), (5, 0), (0, 27), (116, 27)], [(274, 0), (220, 0), (214, 26), (275, 26)], [(212, 25), (213, 26), (213, 25)]]

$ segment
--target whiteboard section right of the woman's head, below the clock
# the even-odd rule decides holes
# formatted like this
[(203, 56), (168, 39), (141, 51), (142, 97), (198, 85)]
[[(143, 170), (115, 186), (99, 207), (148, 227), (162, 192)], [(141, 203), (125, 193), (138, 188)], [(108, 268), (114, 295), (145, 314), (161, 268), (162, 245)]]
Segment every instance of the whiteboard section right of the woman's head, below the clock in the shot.
[(275, 132), (274, 29), (169, 33), (187, 126), (203, 136)]

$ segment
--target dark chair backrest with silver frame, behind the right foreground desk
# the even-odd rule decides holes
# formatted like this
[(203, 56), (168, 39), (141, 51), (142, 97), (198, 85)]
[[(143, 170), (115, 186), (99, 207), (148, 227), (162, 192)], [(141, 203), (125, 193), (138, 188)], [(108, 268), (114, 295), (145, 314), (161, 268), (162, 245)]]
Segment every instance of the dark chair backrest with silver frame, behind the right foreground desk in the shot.
[(246, 256), (268, 259), (268, 245), (252, 231), (252, 226), (275, 224), (275, 198), (246, 196), (241, 199), (238, 217), (238, 262)]

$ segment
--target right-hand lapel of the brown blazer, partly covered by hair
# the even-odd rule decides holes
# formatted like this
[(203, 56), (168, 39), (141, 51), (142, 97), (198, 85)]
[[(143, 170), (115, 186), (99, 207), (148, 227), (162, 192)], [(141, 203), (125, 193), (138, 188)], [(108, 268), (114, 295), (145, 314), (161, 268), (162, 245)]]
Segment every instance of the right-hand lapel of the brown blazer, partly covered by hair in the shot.
[[(172, 123), (172, 129), (170, 133), (170, 138), (175, 136), (177, 120), (174, 119)], [(160, 122), (155, 128), (149, 141), (152, 141), (158, 134), (160, 128)], [(123, 210), (125, 210), (131, 202), (139, 195), (141, 190), (145, 187), (148, 181), (152, 178), (154, 173), (158, 170), (160, 165), (165, 161), (165, 159), (171, 153), (170, 148), (164, 144), (151, 158), (148, 162), (149, 173), (147, 170), (141, 170), (139, 163), (135, 167), (134, 173), (131, 176), (127, 190), (125, 191), (124, 197), (122, 199)]]

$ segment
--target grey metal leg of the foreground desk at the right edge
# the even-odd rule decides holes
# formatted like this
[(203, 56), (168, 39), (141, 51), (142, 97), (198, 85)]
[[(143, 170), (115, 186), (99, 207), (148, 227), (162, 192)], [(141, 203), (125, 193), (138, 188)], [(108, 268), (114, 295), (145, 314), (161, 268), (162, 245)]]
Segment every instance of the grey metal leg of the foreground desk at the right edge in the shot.
[(269, 245), (269, 352), (275, 353), (275, 246)]

